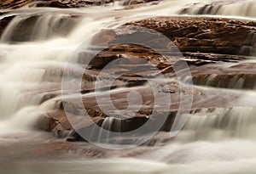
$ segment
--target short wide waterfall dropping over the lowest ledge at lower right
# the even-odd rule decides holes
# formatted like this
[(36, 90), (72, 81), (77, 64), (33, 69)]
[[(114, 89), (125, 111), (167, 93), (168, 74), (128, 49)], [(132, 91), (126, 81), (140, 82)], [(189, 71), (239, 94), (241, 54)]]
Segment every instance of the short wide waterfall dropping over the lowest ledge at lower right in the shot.
[(193, 131), (196, 140), (221, 140), (228, 138), (255, 138), (255, 109), (234, 107), (230, 109), (201, 109), (189, 116), (184, 132)]

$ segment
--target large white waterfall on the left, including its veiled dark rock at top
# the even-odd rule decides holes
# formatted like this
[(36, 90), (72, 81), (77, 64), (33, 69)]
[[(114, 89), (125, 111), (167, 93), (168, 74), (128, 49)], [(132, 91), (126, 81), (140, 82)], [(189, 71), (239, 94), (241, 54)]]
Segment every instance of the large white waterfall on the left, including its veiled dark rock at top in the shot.
[(96, 32), (93, 25), (96, 27), (102, 22), (74, 19), (82, 25), (73, 31), (73, 19), (65, 20), (66, 17), (64, 14), (24, 14), (15, 17), (3, 32), (0, 42), (1, 130), (31, 129), (40, 116), (46, 115), (51, 107), (43, 104), (44, 98), (49, 93), (52, 98), (61, 94), (67, 60), (84, 40), (79, 35), (84, 29), (88, 36), (93, 35)]

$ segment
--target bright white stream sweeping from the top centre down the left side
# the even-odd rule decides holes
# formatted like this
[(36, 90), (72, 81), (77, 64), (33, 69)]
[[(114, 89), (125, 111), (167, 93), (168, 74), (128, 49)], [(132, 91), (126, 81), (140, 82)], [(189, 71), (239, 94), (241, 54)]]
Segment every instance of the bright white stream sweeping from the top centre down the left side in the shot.
[[(9, 23), (0, 42), (0, 119), (12, 120), (20, 109), (32, 106), (40, 112), (45, 112), (44, 107), (40, 107), (40, 100), (48, 91), (48, 87), (55, 87), (56, 93), (60, 93), (61, 90), (60, 81), (52, 81), (52, 76), (44, 76), (46, 70), (63, 70), (79, 44), (102, 28), (121, 25), (131, 19), (144, 18), (148, 15), (176, 14), (185, 3), (186, 1), (166, 1), (158, 6), (119, 11), (113, 11), (113, 8), (123, 8), (119, 3), (103, 9), (102, 7), (86, 8), (85, 11), (83, 9), (21, 8), (6, 14), (20, 15)], [(102, 12), (95, 14), (99, 9)], [(83, 14), (84, 17), (73, 31), (67, 32), (67, 36), (51, 35), (50, 31), (58, 27), (61, 18), (69, 14)], [(24, 35), (24, 37), (30, 36), (31, 40), (25, 39), (22, 42), (21, 38), (20, 42), (9, 44), (14, 42), (15, 32), (19, 32), (20, 26), (24, 25), (24, 21), (32, 15), (39, 15), (39, 17), (34, 21), (32, 31), (27, 31)], [(119, 18), (115, 20), (114, 17)], [(65, 31), (65, 28), (62, 30)], [(35, 119), (32, 119), (33, 121)], [(22, 122), (20, 122), (21, 125)]]

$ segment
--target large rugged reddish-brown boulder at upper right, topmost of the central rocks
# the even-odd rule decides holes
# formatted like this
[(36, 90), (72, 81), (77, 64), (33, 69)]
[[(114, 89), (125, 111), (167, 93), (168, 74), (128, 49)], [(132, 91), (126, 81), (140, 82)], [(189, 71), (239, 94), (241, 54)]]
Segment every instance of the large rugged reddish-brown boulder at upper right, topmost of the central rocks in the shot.
[(182, 52), (250, 55), (255, 51), (254, 21), (205, 17), (154, 17), (129, 22), (114, 31), (102, 31), (94, 43), (99, 36), (104, 36), (108, 44), (141, 37), (149, 46), (168, 47), (168, 42), (157, 40), (148, 29), (167, 36)]

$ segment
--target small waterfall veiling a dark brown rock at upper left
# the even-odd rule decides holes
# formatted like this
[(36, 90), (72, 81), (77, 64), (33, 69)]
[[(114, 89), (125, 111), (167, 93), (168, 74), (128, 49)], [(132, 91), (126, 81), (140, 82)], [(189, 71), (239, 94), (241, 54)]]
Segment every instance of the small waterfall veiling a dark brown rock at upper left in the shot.
[(42, 41), (66, 36), (77, 19), (65, 19), (64, 14), (16, 16), (3, 32), (1, 42)]

